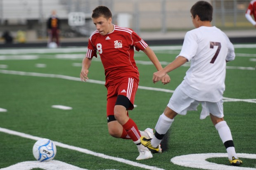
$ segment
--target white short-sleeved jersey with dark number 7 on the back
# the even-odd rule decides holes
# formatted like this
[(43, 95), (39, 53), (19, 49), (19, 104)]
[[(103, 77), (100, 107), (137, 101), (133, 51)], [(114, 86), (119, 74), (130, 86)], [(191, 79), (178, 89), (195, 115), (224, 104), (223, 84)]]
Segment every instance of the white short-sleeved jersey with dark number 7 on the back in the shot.
[(198, 101), (220, 101), (225, 90), (225, 60), (235, 59), (227, 35), (215, 26), (188, 31), (179, 56), (191, 61), (181, 84), (183, 92)]

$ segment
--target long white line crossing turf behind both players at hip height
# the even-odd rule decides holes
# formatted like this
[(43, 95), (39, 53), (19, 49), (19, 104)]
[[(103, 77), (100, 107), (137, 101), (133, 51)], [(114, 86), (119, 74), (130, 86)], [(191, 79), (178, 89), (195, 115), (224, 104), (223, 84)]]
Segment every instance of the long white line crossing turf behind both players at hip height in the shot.
[[(24, 72), (24, 71), (12, 71), (12, 70), (1, 70), (0, 73), (2, 74), (12, 74), (12, 75), (19, 75), (19, 76), (36, 76), (36, 77), (47, 77), (47, 78), (62, 78), (65, 80), (73, 80), (73, 81), (81, 81), (78, 77), (71, 77), (71, 76), (64, 76), (64, 75), (58, 75), (58, 74), (46, 74), (46, 73), (33, 73), (33, 72)], [(104, 81), (100, 80), (87, 80), (88, 83), (95, 83), (95, 84), (101, 84), (104, 85)], [(173, 93), (174, 90), (168, 90), (168, 89), (161, 89), (161, 88), (154, 88), (154, 87), (145, 87), (145, 86), (139, 86), (139, 89), (143, 90), (152, 90), (157, 92), (168, 92)], [(256, 99), (233, 99), (228, 97), (223, 97), (224, 102), (248, 102), (248, 103), (256, 103)]]

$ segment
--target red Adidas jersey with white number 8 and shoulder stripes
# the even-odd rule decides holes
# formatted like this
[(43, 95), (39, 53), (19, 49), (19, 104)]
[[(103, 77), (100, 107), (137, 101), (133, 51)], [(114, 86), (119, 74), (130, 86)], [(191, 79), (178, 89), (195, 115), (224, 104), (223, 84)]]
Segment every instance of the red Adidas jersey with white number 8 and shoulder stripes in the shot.
[(127, 77), (132, 77), (139, 83), (134, 47), (140, 51), (147, 46), (133, 30), (114, 25), (114, 31), (106, 35), (101, 35), (97, 30), (92, 33), (86, 57), (97, 57), (96, 52), (99, 52), (105, 70), (106, 87)]

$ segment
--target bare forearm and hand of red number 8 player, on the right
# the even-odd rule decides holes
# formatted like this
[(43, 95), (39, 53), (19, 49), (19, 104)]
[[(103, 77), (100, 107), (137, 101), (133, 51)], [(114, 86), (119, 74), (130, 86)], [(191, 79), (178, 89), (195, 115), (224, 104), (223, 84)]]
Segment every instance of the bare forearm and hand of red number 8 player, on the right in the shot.
[[(158, 71), (163, 69), (159, 60), (156, 57), (156, 54), (154, 53), (154, 51), (149, 46), (147, 46), (145, 48), (145, 50), (143, 50), (143, 52), (145, 52), (147, 57), (149, 57), (150, 61), (152, 61), (152, 63), (154, 64), (154, 66), (156, 67), (156, 69)], [(170, 76), (168, 76), (168, 74), (166, 74), (166, 75), (162, 76), (161, 81), (164, 85), (166, 85), (166, 84), (170, 83), (171, 78), (170, 78)]]

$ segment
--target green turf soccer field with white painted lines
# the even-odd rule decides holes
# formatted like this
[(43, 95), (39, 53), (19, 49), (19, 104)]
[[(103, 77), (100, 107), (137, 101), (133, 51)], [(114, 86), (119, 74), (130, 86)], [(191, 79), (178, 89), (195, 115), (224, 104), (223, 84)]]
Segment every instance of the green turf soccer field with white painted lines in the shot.
[[(179, 54), (180, 47), (152, 49), (166, 66)], [(255, 44), (235, 45), (237, 57), (227, 64), (224, 115), (236, 151), (244, 161), (239, 169), (256, 169), (255, 49)], [(47, 170), (47, 166), (54, 164), (70, 165), (73, 168), (66, 169), (72, 170), (188, 170), (192, 168), (177, 165), (171, 159), (184, 161), (185, 158), (177, 156), (190, 154), (197, 155), (187, 156), (188, 165), (201, 163), (193, 160), (202, 154), (209, 157), (202, 165), (205, 169), (233, 169), (227, 157), (222, 156), (226, 153), (225, 147), (210, 118), (199, 119), (200, 106), (198, 111), (175, 118), (166, 152), (136, 161), (138, 151), (131, 140), (116, 139), (108, 134), (107, 90), (99, 58), (92, 61), (90, 81), (80, 81), (85, 53), (86, 48), (0, 50), (0, 169), (28, 170), (36, 164), (38, 161), (32, 154), (36, 137), (55, 141), (57, 155), (49, 163), (36, 164), (32, 167), (34, 170)], [(129, 115), (140, 130), (145, 130), (154, 128), (189, 64), (171, 72), (171, 83), (162, 85), (152, 83), (156, 70), (143, 52), (135, 52), (135, 60), (140, 71), (140, 87), (135, 99), (137, 107)], [(53, 105), (72, 109), (55, 109)], [(194, 167), (203, 169), (199, 165)]]

